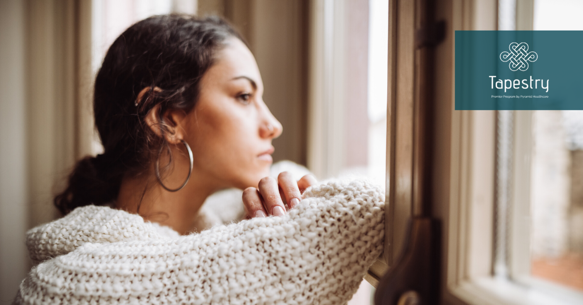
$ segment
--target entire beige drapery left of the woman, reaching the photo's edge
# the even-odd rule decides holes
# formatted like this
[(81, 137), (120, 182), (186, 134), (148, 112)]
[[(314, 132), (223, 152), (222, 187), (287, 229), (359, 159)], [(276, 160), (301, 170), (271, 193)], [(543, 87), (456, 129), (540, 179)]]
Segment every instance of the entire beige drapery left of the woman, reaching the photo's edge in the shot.
[(30, 227), (90, 152), (91, 1), (0, 1), (0, 304), (30, 263)]

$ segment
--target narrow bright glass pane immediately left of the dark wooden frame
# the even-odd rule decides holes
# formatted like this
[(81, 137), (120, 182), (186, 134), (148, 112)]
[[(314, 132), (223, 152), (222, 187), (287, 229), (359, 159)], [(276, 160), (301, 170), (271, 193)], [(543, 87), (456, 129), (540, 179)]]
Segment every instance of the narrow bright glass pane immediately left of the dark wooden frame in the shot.
[(363, 174), (385, 185), (388, 1), (346, 5), (346, 158), (339, 175)]

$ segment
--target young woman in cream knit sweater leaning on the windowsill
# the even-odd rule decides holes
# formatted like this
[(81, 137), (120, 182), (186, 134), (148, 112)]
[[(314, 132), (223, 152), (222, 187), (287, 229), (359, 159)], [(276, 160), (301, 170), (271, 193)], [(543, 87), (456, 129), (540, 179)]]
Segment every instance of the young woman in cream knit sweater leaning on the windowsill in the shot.
[[(28, 233), (15, 303), (342, 304), (382, 250), (382, 191), (269, 177), (282, 125), (257, 63), (220, 19), (155, 16), (111, 45), (95, 82), (104, 153)], [(248, 220), (198, 234), (203, 202), (240, 188)], [(301, 201), (301, 202), (300, 202)]]

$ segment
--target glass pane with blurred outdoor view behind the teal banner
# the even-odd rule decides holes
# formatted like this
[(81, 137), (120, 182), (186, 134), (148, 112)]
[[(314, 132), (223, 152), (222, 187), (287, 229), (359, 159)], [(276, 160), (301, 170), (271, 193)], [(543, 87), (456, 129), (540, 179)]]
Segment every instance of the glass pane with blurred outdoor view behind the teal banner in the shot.
[[(583, 1), (536, 0), (535, 30), (583, 30)], [(531, 274), (583, 291), (583, 111), (533, 111)]]

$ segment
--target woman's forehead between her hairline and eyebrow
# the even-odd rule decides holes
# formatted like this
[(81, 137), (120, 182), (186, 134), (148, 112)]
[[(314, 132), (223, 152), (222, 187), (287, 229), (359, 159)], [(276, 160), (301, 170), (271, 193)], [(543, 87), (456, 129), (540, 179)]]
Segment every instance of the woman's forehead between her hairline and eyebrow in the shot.
[(230, 38), (215, 56), (215, 64), (205, 73), (208, 81), (223, 83), (239, 76), (247, 76), (255, 80), (259, 87), (262, 86), (255, 57), (242, 41)]

